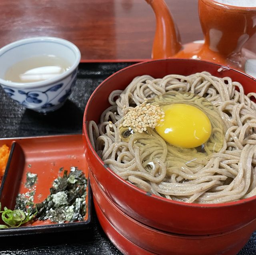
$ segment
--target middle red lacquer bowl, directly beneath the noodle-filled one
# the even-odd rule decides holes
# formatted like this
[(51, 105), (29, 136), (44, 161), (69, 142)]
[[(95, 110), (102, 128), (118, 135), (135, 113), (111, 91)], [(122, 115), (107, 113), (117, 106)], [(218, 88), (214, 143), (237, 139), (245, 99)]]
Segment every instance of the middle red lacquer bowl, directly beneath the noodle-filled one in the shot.
[[(94, 205), (100, 220), (103, 216), (120, 235), (132, 244), (159, 255), (234, 255), (246, 244), (253, 230), (256, 219), (239, 229), (214, 235), (177, 235), (148, 227), (124, 213), (106, 197), (96, 180), (89, 172), (90, 184), (94, 195)], [(100, 212), (101, 211), (101, 212)], [(108, 234), (108, 227), (102, 226)], [(111, 237), (112, 239), (114, 237)], [(112, 240), (113, 241), (113, 240)], [(127, 247), (129, 244), (126, 242)], [(126, 253), (125, 253), (126, 254)], [(132, 253), (128, 253), (132, 254)], [(134, 253), (135, 254), (135, 253)]]

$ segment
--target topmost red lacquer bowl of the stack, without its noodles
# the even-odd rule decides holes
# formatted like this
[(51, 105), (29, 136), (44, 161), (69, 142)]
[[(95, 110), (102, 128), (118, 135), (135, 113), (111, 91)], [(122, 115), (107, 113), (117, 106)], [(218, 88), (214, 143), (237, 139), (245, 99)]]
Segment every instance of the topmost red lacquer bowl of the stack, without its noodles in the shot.
[(117, 176), (94, 151), (88, 137), (88, 121), (98, 123), (109, 107), (108, 95), (125, 87), (138, 75), (155, 78), (174, 73), (190, 75), (208, 71), (218, 77), (229, 76), (242, 83), (245, 93), (256, 92), (256, 80), (233, 69), (195, 59), (162, 59), (126, 67), (103, 81), (90, 97), (84, 112), (83, 139), (92, 175), (106, 196), (132, 218), (156, 229), (186, 235), (223, 233), (242, 227), (256, 218), (256, 197), (225, 204), (186, 204), (174, 202), (136, 188)]

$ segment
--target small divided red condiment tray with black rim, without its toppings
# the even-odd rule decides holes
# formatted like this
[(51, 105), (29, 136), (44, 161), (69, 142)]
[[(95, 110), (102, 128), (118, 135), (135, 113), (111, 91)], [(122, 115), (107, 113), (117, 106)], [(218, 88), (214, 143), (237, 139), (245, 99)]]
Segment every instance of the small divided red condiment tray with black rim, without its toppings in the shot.
[[(50, 220), (36, 220), (32, 224), (21, 227), (1, 229), (0, 236), (77, 230), (90, 226), (91, 189), (82, 134), (0, 139), (0, 146), (3, 144), (7, 144), (11, 148), (11, 152), (0, 186), (2, 208), (6, 206), (13, 210), (18, 193), (29, 191), (24, 185), (27, 172), (38, 175), (38, 181), (35, 184), (35, 203), (42, 202), (50, 194), (54, 179), (63, 176), (64, 170), (69, 171), (71, 166), (78, 167), (84, 172), (88, 185), (84, 221), (56, 224)], [(60, 168), (64, 168), (63, 171), (60, 171)], [(0, 223), (3, 224), (1, 219)]]

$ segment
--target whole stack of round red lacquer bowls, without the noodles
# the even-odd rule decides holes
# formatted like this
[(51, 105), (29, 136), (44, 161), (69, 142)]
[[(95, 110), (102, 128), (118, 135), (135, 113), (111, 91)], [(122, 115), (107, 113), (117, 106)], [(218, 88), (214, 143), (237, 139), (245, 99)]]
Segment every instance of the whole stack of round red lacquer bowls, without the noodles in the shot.
[(256, 80), (220, 65), (192, 59), (164, 59), (132, 65), (94, 91), (84, 113), (83, 137), (94, 205), (102, 228), (124, 254), (235, 255), (256, 229), (256, 197), (224, 204), (187, 204), (147, 193), (126, 182), (100, 159), (89, 139), (88, 122), (99, 122), (113, 90), (124, 90), (139, 75), (164, 77), (208, 71), (229, 76), (244, 90)]

